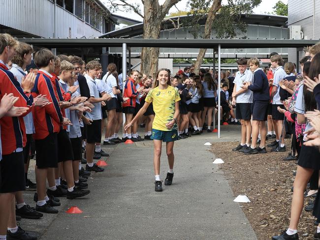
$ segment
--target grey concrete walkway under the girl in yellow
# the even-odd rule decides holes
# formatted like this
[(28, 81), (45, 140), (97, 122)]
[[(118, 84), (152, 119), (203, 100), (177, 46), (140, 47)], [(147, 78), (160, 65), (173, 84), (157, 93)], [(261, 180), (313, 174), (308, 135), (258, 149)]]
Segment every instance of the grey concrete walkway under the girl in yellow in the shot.
[[(163, 184), (163, 192), (154, 191), (152, 141), (103, 147), (111, 153), (108, 166), (92, 173), (88, 198), (62, 199), (59, 214), (21, 225), (43, 233), (41, 240), (256, 240), (224, 173), (212, 164), (210, 146), (203, 145), (234, 141), (239, 126), (227, 127), (219, 140), (204, 133), (175, 143), (173, 183)], [(161, 180), (167, 170), (163, 145)], [(70, 206), (83, 213), (65, 213)]]

